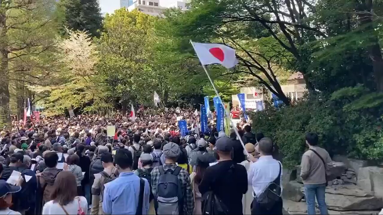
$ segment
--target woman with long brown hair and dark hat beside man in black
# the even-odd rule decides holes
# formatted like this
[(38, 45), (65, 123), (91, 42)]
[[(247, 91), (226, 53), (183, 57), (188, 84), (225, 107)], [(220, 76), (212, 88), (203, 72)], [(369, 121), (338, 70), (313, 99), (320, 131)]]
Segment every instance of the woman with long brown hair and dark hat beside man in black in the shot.
[(209, 167), (210, 155), (208, 153), (198, 155), (197, 165), (195, 173), (190, 174), (191, 189), (194, 197), (194, 210), (193, 215), (201, 215), (201, 198), (202, 195), (198, 190), (198, 185), (201, 183), (203, 174), (205, 174), (206, 168)]

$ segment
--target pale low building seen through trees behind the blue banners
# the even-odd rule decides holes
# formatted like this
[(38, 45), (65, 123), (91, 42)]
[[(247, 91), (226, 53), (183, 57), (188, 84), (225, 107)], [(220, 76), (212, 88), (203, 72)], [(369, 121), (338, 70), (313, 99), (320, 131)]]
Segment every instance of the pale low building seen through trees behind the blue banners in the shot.
[[(285, 85), (281, 85), (282, 91), (291, 100), (302, 98), (304, 93), (307, 91), (306, 83), (304, 82), (303, 75), (299, 72), (292, 74), (286, 81)], [(264, 101), (265, 96), (262, 91), (255, 87), (244, 87), (240, 90), (241, 93), (245, 94), (245, 108), (257, 109), (257, 102)], [(272, 98), (272, 93), (268, 92), (268, 98)], [(241, 105), (237, 95), (231, 96), (232, 107)]]

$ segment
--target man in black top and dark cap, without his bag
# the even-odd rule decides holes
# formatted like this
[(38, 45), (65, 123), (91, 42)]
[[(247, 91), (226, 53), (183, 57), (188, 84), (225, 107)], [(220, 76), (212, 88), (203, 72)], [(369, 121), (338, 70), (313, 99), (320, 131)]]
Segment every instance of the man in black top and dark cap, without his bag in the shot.
[(247, 192), (247, 172), (244, 166), (231, 159), (232, 141), (229, 137), (217, 139), (218, 163), (206, 169), (198, 189), (202, 196), (213, 191), (226, 205), (229, 214), (243, 214), (242, 195)]

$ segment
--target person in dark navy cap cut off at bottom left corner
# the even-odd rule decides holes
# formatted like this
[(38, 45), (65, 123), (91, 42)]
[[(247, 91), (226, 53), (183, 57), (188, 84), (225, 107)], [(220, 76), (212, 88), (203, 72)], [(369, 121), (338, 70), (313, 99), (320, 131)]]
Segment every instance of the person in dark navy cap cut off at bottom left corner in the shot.
[(11, 210), (12, 194), (21, 191), (20, 186), (12, 186), (4, 180), (0, 180), (0, 214), (18, 215), (17, 211)]

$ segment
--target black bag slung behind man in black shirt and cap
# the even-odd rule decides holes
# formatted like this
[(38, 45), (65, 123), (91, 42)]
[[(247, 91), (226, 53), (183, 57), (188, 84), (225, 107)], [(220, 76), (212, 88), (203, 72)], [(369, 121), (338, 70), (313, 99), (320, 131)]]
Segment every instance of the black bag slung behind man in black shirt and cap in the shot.
[[(231, 165), (227, 173), (231, 174), (234, 171), (235, 165)], [(227, 175), (228, 175), (227, 174)], [(228, 177), (228, 176), (227, 176)], [(216, 178), (213, 179), (212, 184), (216, 183)], [(210, 190), (203, 194), (201, 198), (201, 209), (203, 215), (226, 215), (230, 214), (228, 207), (222, 202), (222, 200), (214, 194), (213, 190)]]

